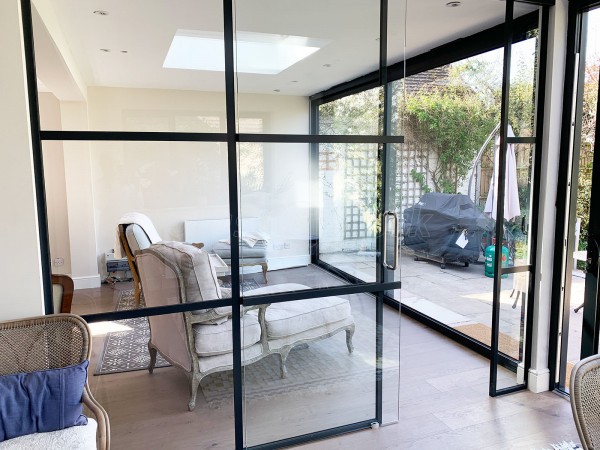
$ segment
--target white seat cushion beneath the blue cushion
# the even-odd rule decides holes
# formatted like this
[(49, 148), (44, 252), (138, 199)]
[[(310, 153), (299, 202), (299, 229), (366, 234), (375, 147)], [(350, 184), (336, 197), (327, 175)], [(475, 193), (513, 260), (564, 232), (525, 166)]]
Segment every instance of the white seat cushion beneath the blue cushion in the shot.
[(98, 423), (88, 418), (87, 425), (65, 428), (49, 433), (33, 433), (0, 442), (2, 450), (96, 450)]

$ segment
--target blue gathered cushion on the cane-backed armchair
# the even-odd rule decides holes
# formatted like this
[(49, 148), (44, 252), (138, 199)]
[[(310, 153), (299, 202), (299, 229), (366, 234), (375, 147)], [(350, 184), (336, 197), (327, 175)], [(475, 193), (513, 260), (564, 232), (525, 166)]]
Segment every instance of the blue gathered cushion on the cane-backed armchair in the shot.
[(0, 441), (86, 425), (81, 397), (88, 364), (0, 376)]

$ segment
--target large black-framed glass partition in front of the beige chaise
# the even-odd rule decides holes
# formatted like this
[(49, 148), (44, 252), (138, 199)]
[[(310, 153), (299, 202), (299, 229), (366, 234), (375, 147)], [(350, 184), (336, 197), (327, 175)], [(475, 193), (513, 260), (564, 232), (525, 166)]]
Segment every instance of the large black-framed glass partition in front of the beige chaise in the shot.
[[(100, 346), (90, 382), (113, 443), (162, 428), (153, 445), (280, 448), (396, 421), (399, 314), (384, 293), (400, 288), (389, 174), (403, 137), (387, 125), (387, 67), (405, 59), (405, 2), (22, 5), (45, 283), (64, 270), (91, 289), (74, 312)], [(311, 132), (308, 96), (374, 67), (374, 125)], [(311, 260), (323, 163), (358, 217), (348, 232), (369, 240), (371, 279)], [(107, 264), (131, 225), (152, 243), (128, 266), (139, 300)]]

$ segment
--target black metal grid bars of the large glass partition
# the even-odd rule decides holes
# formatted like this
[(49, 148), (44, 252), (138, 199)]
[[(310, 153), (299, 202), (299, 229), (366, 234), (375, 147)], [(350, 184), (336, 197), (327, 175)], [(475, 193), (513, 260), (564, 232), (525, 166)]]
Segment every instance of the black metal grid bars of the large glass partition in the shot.
[[(376, 408), (373, 420), (348, 424), (341, 427), (326, 429), (303, 436), (296, 436), (278, 442), (267, 443), (253, 448), (280, 448), (282, 445), (295, 445), (314, 439), (322, 439), (340, 433), (366, 428), (372, 422), (381, 423), (382, 420), (382, 324), (383, 324), (383, 299), (385, 290), (399, 289), (399, 282), (384, 282), (380, 273), (375, 283), (362, 283), (355, 280), (354, 284), (331, 288), (313, 289), (306, 291), (287, 292), (279, 294), (243, 297), (240, 292), (239, 275), (239, 217), (238, 217), (238, 182), (237, 182), (237, 143), (238, 142), (273, 142), (273, 143), (308, 143), (314, 149), (319, 143), (373, 143), (378, 144), (385, 154), (389, 144), (402, 143), (402, 136), (314, 136), (293, 134), (244, 134), (236, 132), (236, 100), (235, 100), (235, 66), (234, 66), (234, 6), (232, 0), (223, 0), (224, 21), (224, 54), (225, 54), (225, 102), (226, 102), (226, 133), (174, 133), (174, 132), (127, 132), (127, 131), (59, 131), (40, 130), (39, 105), (37, 100), (37, 83), (35, 70), (35, 52), (33, 45), (33, 25), (31, 18), (31, 0), (21, 0), (22, 19), (25, 39), (25, 57), (28, 74), (28, 90), (31, 114), (31, 130), (33, 155), (35, 162), (35, 184), (38, 202), (38, 220), (40, 229), (40, 246), (42, 251), (42, 270), (44, 280), (44, 300), (46, 311), (52, 312), (52, 293), (50, 283), (50, 255), (49, 238), (47, 229), (46, 201), (44, 197), (45, 185), (42, 166), (42, 141), (148, 141), (148, 142), (222, 142), (227, 144), (227, 166), (229, 174), (229, 210), (230, 210), (230, 239), (231, 239), (231, 279), (232, 298), (226, 300), (213, 300), (206, 302), (185, 303), (179, 305), (160, 306), (130, 311), (113, 311), (106, 313), (88, 314), (83, 316), (88, 323), (119, 320), (134, 317), (148, 317), (164, 314), (181, 313), (201, 308), (218, 306), (262, 305), (265, 303), (287, 302), (309, 298), (319, 298), (332, 295), (349, 295), (358, 293), (373, 294), (376, 298)], [(383, 71), (382, 80), (385, 82), (387, 74), (386, 49), (387, 49), (387, 0), (380, 0), (380, 70)], [(318, 160), (313, 161), (318, 165)], [(384, 194), (380, 196), (380, 204), (384, 205)], [(314, 215), (311, 217), (315, 217)], [(311, 218), (311, 220), (314, 220)], [(314, 228), (313, 228), (314, 229)], [(380, 238), (381, 240), (381, 238)], [(313, 240), (314, 242), (314, 240)], [(318, 245), (318, 242), (316, 243)], [(382, 248), (382, 242), (379, 243)], [(382, 269), (381, 269), (382, 271)], [(232, 308), (232, 319), (237, 326), (233, 327), (233, 378), (234, 378), (234, 429), (235, 446), (244, 448), (244, 416), (243, 416), (243, 368), (241, 349), (241, 317), (240, 308)]]

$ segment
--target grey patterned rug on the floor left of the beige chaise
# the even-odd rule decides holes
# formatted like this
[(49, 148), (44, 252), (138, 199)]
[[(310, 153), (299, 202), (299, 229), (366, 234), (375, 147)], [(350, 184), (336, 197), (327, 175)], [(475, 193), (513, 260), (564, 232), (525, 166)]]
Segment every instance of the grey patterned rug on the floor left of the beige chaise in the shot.
[[(240, 284), (242, 291), (257, 289), (259, 287), (258, 283), (254, 280), (244, 280)], [(223, 283), (223, 287), (229, 286), (231, 286), (231, 283)], [(141, 307), (145, 306), (143, 295), (140, 303)], [(135, 308), (133, 290), (121, 291), (116, 311)], [(94, 375), (146, 370), (150, 364), (150, 353), (148, 351), (150, 327), (148, 326), (148, 319), (139, 317), (136, 319), (117, 320), (116, 323), (127, 327), (127, 330), (110, 332), (106, 335), (104, 349), (96, 365)], [(170, 364), (159, 354), (156, 359), (156, 367), (168, 366)]]

